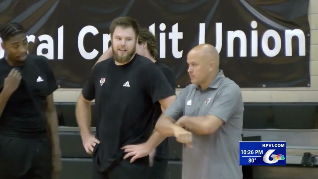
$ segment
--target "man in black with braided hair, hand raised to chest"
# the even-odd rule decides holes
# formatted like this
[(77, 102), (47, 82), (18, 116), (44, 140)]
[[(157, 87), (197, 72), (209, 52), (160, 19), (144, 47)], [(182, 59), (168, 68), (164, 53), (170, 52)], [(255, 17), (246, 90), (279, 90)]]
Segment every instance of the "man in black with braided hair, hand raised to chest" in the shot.
[(0, 59), (0, 178), (58, 177), (54, 74), (45, 57), (27, 54), (23, 26), (10, 23), (0, 36), (5, 52)]

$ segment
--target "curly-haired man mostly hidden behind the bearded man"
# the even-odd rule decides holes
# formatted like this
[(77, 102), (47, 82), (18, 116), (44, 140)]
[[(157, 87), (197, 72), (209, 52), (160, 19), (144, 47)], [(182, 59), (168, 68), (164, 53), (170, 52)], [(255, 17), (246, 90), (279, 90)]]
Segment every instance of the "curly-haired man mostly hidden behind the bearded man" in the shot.
[[(165, 77), (167, 78), (169, 84), (171, 85), (172, 89), (176, 91), (176, 77), (173, 74), (172, 70), (161, 63), (160, 61), (156, 61), (156, 56), (158, 54), (157, 48), (157, 40), (156, 37), (148, 30), (148, 29), (141, 29), (138, 37), (138, 43), (136, 45), (136, 52), (144, 57), (149, 58), (152, 62), (154, 62), (163, 72)], [(107, 60), (112, 57), (112, 50), (109, 48), (104, 54), (100, 56), (98, 61)], [(154, 112), (154, 121), (155, 124), (162, 114), (162, 108), (159, 102), (155, 103), (155, 112)], [(124, 147), (133, 148), (132, 146)], [(150, 162), (152, 168), (150, 169), (150, 177), (151, 179), (164, 179), (166, 174), (166, 168), (168, 166), (169, 160), (169, 144), (168, 138), (162, 141), (160, 145), (150, 154)]]

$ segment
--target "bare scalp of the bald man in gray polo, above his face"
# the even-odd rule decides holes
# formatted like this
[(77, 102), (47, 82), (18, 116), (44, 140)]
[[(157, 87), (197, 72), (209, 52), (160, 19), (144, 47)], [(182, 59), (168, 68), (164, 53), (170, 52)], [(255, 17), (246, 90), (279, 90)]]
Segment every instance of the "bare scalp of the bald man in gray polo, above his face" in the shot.
[(200, 57), (200, 60), (210, 63), (211, 61), (215, 62), (215, 65), (218, 67), (220, 63), (220, 56), (218, 50), (210, 44), (200, 44), (196, 47), (193, 47), (189, 55), (195, 55)]

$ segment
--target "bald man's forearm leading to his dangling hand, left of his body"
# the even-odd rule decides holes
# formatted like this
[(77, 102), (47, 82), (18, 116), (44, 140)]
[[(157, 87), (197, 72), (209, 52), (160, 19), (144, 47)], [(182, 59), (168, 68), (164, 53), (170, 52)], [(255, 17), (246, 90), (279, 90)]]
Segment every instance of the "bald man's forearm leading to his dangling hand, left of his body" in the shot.
[(158, 119), (156, 123), (156, 131), (158, 131), (162, 136), (171, 137), (174, 136), (174, 130), (176, 127), (175, 120), (170, 118), (169, 116), (162, 114), (162, 116)]

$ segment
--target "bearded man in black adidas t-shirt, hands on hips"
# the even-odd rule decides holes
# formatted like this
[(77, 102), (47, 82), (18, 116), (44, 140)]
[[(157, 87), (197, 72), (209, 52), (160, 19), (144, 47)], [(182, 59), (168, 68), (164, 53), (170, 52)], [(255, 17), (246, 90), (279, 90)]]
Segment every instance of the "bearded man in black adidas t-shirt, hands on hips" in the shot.
[[(135, 53), (139, 31), (132, 18), (113, 20), (113, 58), (96, 64), (79, 95), (76, 117), (83, 146), (93, 154), (94, 178), (149, 179), (149, 153), (165, 138), (153, 132), (154, 104), (167, 109), (175, 92), (152, 61)], [(96, 137), (89, 130), (94, 99)], [(141, 150), (124, 156), (131, 150), (123, 147), (134, 144)]]

